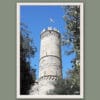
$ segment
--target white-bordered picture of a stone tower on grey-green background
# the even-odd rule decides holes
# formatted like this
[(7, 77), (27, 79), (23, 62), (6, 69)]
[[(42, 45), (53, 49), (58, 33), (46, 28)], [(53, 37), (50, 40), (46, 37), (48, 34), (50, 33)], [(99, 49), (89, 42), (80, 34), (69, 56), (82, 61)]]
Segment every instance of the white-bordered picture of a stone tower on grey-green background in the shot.
[(84, 97), (83, 3), (17, 3), (17, 98)]

